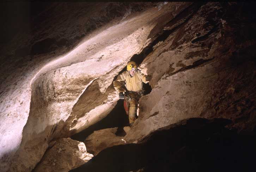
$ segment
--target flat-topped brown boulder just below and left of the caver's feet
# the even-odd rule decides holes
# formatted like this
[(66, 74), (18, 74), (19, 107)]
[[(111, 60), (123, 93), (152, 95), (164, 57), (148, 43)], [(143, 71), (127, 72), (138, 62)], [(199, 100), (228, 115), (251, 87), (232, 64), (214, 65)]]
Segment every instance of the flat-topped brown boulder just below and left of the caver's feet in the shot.
[(117, 132), (117, 128), (118, 127), (106, 128), (103, 130), (94, 131), (84, 140), (87, 150), (96, 156), (100, 151), (107, 147), (125, 144), (125, 142), (122, 140), (123, 137), (115, 134)]

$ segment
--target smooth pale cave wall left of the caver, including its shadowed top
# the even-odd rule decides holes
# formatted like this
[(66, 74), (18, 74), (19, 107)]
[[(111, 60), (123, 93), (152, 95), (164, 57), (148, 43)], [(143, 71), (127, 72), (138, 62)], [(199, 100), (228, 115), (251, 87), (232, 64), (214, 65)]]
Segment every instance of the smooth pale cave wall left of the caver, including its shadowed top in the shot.
[(31, 171), (52, 139), (104, 118), (114, 77), (189, 4), (53, 3), (29, 20), (0, 49), (1, 169)]

